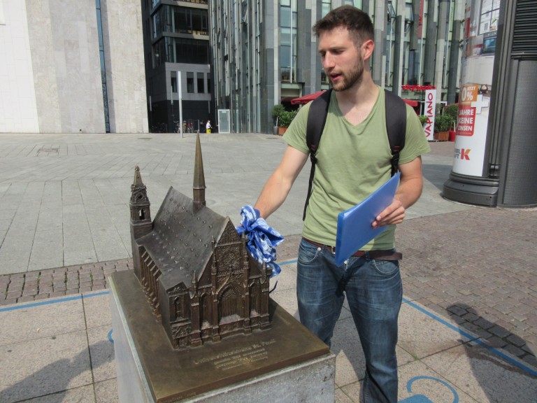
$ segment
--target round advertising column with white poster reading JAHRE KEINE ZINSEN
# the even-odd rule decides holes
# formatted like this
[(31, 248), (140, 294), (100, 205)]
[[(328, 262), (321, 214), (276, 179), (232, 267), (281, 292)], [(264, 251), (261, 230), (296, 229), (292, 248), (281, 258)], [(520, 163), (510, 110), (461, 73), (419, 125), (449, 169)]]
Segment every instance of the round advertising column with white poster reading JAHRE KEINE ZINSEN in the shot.
[(488, 178), (488, 125), (500, 0), (466, 0), (464, 47), (454, 160), (447, 199), (496, 204), (497, 181)]

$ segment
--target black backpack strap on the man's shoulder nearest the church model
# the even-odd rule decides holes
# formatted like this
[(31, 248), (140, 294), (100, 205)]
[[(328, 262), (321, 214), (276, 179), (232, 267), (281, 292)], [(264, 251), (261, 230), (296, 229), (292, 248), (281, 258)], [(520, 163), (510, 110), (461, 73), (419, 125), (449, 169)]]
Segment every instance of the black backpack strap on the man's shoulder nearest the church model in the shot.
[(324, 124), (327, 122), (328, 115), (328, 106), (330, 104), (330, 96), (332, 89), (323, 92), (320, 94), (317, 99), (314, 99), (311, 102), (310, 110), (308, 111), (308, 123), (306, 125), (306, 143), (308, 145), (308, 150), (310, 150), (310, 181), (308, 184), (308, 195), (306, 196), (306, 204), (304, 204), (304, 213), (302, 220), (306, 219), (306, 209), (310, 202), (311, 188), (313, 185), (313, 176), (315, 175), (315, 164), (317, 163), (317, 158), (315, 153), (317, 153), (317, 148), (321, 141), (322, 131), (324, 130)]

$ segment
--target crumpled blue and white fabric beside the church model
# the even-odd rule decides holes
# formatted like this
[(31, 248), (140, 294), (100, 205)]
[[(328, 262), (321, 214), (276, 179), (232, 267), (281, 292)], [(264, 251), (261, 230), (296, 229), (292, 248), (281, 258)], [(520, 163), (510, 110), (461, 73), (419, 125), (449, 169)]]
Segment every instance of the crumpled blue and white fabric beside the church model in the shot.
[(271, 267), (271, 277), (277, 276), (282, 269), (275, 262), (275, 247), (282, 243), (283, 236), (259, 216), (259, 210), (250, 205), (241, 208), (241, 217), (241, 225), (236, 229), (239, 235), (246, 234), (246, 248), (257, 262), (265, 262), (267, 267)]

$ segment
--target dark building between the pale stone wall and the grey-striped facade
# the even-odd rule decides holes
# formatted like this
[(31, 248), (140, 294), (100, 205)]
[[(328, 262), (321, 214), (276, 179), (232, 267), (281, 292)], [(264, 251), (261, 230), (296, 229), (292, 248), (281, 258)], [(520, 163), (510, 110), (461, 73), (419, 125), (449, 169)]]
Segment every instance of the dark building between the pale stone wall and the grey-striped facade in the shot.
[(215, 122), (208, 0), (142, 0), (142, 20), (151, 130)]

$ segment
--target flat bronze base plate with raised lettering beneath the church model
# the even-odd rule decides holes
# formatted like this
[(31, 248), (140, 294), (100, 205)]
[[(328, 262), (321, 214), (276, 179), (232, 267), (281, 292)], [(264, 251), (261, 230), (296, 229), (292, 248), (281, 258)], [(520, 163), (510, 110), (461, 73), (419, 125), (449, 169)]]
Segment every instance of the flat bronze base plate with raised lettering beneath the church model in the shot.
[(270, 329), (174, 349), (134, 272), (112, 276), (155, 402), (194, 397), (329, 353), (326, 344), (272, 300)]

